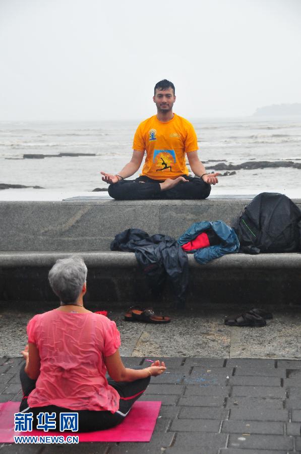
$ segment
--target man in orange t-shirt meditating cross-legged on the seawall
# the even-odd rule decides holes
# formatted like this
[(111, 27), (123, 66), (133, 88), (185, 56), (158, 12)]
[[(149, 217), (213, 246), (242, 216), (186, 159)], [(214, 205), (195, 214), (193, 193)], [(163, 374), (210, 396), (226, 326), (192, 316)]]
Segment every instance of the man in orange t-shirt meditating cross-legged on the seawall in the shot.
[[(198, 141), (192, 124), (172, 112), (175, 101), (172, 82), (164, 79), (155, 85), (153, 101), (157, 115), (142, 122), (135, 133), (133, 156), (119, 174), (101, 172), (108, 183), (108, 193), (117, 200), (206, 199), (211, 185), (218, 183), (216, 174), (208, 174), (198, 157)], [(142, 174), (134, 175), (143, 160)], [(188, 175), (186, 154), (192, 172)]]

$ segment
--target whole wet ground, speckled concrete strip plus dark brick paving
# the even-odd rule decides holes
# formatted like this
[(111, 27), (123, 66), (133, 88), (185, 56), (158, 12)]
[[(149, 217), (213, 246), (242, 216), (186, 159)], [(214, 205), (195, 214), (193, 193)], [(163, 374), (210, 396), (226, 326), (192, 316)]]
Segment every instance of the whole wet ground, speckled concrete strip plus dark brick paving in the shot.
[[(143, 400), (162, 401), (149, 443), (82, 443), (72, 449), (63, 445), (3, 444), (0, 454), (69, 454), (71, 450), (73, 454), (301, 453), (301, 359), (292, 359), (300, 358), (299, 315), (295, 314), (291, 326), (294, 339), (288, 329), (289, 317), (293, 322), (289, 314), (286, 318), (274, 314), (273, 322), (265, 328), (236, 330), (223, 325), (221, 313), (173, 315), (170, 325), (158, 327), (125, 323), (120, 314), (110, 313), (122, 333), (126, 366), (145, 367), (149, 365), (145, 358), (171, 352), (169, 357), (161, 357), (167, 372), (152, 378), (143, 396)], [(14, 358), (0, 359), (0, 402), (20, 401), (18, 371), (23, 359), (17, 355), (24, 345), (30, 316), (19, 313), (19, 317), (13, 317), (6, 312), (0, 318), (2, 339), (8, 335), (9, 349), (14, 353)], [(1, 344), (4, 349), (3, 340)], [(186, 345), (189, 355), (185, 355)], [(244, 358), (258, 352), (262, 359)]]

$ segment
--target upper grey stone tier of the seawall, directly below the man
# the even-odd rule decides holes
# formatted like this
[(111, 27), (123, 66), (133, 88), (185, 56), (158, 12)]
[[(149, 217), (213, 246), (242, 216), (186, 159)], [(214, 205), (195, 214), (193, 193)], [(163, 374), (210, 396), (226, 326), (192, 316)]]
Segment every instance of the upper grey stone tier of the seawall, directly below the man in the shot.
[[(0, 202), (0, 251), (108, 251), (137, 228), (178, 238), (193, 223), (229, 225), (250, 200)], [(301, 208), (301, 199), (296, 200)]]

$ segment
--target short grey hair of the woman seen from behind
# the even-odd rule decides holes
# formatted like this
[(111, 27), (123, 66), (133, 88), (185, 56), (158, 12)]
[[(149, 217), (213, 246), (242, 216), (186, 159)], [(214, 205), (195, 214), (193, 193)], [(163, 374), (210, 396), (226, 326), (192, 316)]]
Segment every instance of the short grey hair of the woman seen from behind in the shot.
[(76, 255), (58, 259), (49, 271), (51, 289), (62, 303), (74, 303), (79, 297), (87, 278), (84, 260)]

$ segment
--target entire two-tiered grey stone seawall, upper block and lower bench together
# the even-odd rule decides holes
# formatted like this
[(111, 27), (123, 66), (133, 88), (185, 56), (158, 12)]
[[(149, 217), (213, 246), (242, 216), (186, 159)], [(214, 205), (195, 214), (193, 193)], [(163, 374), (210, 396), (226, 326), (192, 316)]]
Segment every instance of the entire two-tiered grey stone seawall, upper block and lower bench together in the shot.
[[(301, 208), (301, 200), (295, 201)], [(0, 202), (0, 303), (39, 310), (55, 296), (47, 273), (57, 258), (80, 253), (88, 266), (86, 301), (99, 309), (134, 303), (172, 306), (166, 286), (155, 299), (135, 255), (108, 252), (128, 228), (179, 237), (193, 222), (228, 224), (250, 200)], [(189, 256), (187, 306), (300, 304), (301, 254), (232, 254), (200, 266)]]

